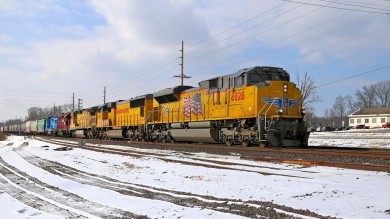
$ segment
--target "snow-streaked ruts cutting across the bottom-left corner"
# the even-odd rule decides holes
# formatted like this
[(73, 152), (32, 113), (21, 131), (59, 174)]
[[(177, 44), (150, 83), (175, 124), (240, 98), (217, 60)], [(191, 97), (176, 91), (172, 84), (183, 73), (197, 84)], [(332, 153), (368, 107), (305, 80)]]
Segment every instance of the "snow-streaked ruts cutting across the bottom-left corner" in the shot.
[(0, 157), (0, 188), (22, 203), (66, 218), (140, 217), (56, 188), (14, 168)]

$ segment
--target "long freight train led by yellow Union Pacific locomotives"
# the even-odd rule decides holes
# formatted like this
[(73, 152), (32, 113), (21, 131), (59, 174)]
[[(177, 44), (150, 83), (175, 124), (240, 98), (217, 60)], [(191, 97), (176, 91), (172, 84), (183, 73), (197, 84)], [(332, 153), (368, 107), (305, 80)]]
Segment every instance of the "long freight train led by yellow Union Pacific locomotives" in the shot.
[(283, 68), (255, 66), (1, 131), (129, 141), (307, 146), (301, 91)]

